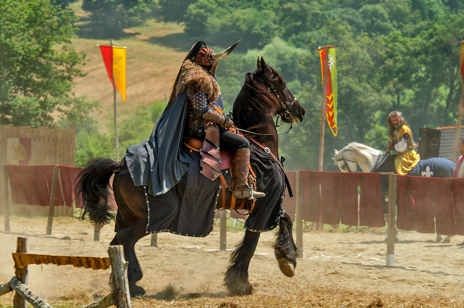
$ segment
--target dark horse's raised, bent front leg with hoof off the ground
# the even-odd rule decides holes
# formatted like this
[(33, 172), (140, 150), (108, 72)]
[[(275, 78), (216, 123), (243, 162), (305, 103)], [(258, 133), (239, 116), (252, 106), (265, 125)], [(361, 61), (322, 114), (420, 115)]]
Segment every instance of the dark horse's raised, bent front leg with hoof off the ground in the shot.
[[(279, 262), (279, 268), (287, 277), (293, 277), (295, 274), (296, 259), (298, 251), (296, 250), (295, 242), (292, 236), (293, 223), (290, 216), (285, 213), (285, 216), (280, 218), (279, 231), (277, 232), (276, 242), (274, 242), (274, 253)], [(289, 265), (293, 264), (293, 269)]]

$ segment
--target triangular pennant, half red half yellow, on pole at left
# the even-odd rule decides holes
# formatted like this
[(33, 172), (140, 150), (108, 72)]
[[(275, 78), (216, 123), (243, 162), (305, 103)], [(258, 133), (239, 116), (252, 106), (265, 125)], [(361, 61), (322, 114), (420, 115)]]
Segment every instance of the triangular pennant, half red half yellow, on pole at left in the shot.
[(126, 104), (126, 48), (118, 46), (99, 45), (102, 52), (106, 72), (110, 77), (111, 85), (115, 80), (116, 90), (121, 94)]

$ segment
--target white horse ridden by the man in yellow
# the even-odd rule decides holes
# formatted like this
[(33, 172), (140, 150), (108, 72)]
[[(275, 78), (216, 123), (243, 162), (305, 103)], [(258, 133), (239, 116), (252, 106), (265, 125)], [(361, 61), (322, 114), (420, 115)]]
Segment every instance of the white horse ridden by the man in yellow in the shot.
[[(334, 149), (332, 159), (342, 172), (356, 172), (357, 165), (360, 166), (362, 172), (392, 172), (392, 170), (387, 170), (388, 168), (384, 169), (384, 164), (388, 162), (391, 164), (393, 163), (392, 156), (382, 151), (375, 150), (366, 144), (357, 142), (348, 144), (340, 151)], [(429, 159), (444, 158), (434, 157)], [(443, 242), (449, 243), (451, 237), (452, 236), (446, 236)], [(442, 239), (443, 237), (437, 234), (436, 242), (441, 242)]]

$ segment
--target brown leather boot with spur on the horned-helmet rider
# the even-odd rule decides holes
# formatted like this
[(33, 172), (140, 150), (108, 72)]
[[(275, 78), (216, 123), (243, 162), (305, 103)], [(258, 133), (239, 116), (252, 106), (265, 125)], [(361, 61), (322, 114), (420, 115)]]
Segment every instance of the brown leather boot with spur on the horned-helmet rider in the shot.
[[(250, 163), (250, 149), (240, 148), (232, 155), (232, 175), (234, 185), (232, 194), (234, 198), (251, 197), (251, 186), (248, 184), (248, 164)], [(264, 197), (266, 194), (253, 190), (254, 198)]]

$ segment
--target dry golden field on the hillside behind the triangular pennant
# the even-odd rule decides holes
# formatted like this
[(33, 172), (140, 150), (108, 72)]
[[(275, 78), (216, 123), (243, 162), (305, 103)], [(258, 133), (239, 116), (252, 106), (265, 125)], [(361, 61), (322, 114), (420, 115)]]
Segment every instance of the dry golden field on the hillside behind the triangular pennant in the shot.
[[(90, 60), (83, 67), (87, 76), (74, 79), (75, 92), (100, 102), (102, 113), (95, 116), (103, 132), (113, 117), (113, 89), (97, 43), (106, 43), (110, 38), (82, 38), (91, 36), (85, 33), (85, 25), (88, 23), (85, 21), (86, 13), (81, 9), (80, 2), (73, 3), (71, 7), (84, 20), (76, 23), (81, 30), (79, 38), (72, 39), (72, 42), (76, 50), (86, 52)], [(118, 114), (122, 118), (125, 111), (163, 101), (165, 95), (169, 97), (182, 60), (193, 44), (183, 34), (183, 26), (175, 23), (148, 20), (145, 26), (126, 29), (125, 32), (125, 37), (115, 39), (118, 44), (127, 46), (126, 105), (117, 94)], [(179, 41), (185, 42), (184, 46), (179, 45)]]

